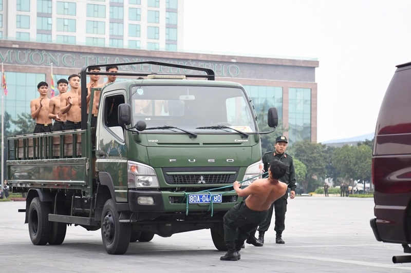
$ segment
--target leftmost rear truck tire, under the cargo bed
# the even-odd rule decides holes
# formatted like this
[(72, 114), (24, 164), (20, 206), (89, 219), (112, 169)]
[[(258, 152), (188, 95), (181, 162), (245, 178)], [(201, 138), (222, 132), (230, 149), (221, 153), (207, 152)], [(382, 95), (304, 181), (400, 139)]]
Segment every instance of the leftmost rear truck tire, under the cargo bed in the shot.
[(48, 214), (51, 213), (50, 204), (33, 198), (29, 208), (29, 234), (33, 245), (45, 245), (50, 238), (51, 224)]

